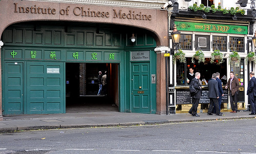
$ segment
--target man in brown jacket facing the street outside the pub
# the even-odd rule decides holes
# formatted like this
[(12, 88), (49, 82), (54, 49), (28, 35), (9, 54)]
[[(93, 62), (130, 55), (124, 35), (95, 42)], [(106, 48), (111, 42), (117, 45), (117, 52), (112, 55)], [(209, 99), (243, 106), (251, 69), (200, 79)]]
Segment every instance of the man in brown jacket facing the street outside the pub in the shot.
[(239, 91), (239, 80), (238, 78), (234, 77), (234, 72), (230, 72), (230, 78), (225, 86), (225, 89), (229, 89), (229, 98), (230, 98), (230, 105), (232, 112), (238, 112), (238, 91)]

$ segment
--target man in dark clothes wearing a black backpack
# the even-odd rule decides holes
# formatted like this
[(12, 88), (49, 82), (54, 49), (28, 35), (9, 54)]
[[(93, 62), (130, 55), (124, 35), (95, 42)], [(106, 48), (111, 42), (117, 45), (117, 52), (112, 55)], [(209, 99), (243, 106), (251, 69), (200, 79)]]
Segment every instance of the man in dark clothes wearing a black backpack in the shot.
[(195, 116), (195, 117), (200, 117), (197, 114), (197, 107), (198, 107), (199, 100), (200, 100), (201, 94), (202, 94), (202, 87), (201, 87), (201, 84), (199, 83), (199, 78), (200, 78), (200, 73), (197, 72), (195, 74), (195, 78), (193, 78), (191, 80), (191, 83), (190, 83), (190, 84), (194, 84), (194, 87), (197, 90), (197, 92), (194, 95), (191, 95), (191, 97), (192, 97), (192, 107), (189, 109), (188, 113), (192, 116)]

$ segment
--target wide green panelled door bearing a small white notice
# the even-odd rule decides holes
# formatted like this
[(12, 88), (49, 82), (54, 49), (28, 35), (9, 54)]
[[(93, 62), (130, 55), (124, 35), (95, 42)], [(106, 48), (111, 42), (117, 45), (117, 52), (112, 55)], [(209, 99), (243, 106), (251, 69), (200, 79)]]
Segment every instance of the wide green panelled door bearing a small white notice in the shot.
[(27, 114), (65, 113), (63, 62), (28, 62)]

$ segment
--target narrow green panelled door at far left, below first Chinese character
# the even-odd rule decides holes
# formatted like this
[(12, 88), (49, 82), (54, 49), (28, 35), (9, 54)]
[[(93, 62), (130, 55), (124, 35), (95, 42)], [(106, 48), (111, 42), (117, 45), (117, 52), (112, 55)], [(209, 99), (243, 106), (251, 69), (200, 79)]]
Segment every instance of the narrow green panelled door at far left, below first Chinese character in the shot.
[(24, 114), (23, 63), (5, 62), (4, 68), (3, 114)]

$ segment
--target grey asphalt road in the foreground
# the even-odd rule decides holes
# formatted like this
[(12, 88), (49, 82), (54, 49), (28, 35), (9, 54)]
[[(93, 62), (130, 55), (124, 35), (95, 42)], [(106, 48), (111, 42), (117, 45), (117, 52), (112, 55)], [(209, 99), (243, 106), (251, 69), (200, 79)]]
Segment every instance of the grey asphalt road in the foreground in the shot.
[(24, 131), (0, 153), (256, 153), (256, 119)]

